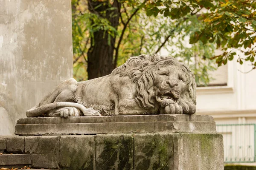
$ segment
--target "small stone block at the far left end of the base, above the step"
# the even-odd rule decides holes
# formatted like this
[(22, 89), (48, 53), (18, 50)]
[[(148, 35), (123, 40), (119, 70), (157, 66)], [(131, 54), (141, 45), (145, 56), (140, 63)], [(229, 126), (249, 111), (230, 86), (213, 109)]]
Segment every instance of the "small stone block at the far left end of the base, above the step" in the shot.
[(8, 153), (24, 153), (25, 136), (4, 136), (1, 139), (6, 141), (6, 152)]

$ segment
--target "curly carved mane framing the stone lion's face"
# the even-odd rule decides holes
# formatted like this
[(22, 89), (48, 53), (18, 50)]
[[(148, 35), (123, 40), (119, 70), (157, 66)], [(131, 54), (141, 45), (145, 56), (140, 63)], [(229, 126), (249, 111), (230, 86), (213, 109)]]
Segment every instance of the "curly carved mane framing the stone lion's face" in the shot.
[(125, 64), (114, 69), (112, 75), (119, 74), (119, 77), (128, 76), (132, 82), (137, 84), (137, 94), (135, 100), (145, 109), (154, 109), (154, 80), (157, 77), (157, 70), (163, 67), (179, 66), (186, 75), (187, 91), (181, 95), (181, 99), (192, 102), (196, 105), (196, 83), (195, 75), (183, 62), (178, 62), (173, 57), (163, 57), (158, 54), (140, 55), (129, 58)]

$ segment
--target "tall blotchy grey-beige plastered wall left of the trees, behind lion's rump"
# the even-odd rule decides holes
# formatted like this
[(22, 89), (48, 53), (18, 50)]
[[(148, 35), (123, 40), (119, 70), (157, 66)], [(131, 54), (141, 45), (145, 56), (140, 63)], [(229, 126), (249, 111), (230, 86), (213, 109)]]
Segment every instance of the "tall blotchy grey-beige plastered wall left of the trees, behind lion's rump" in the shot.
[(0, 0), (0, 135), (72, 73), (70, 0)]

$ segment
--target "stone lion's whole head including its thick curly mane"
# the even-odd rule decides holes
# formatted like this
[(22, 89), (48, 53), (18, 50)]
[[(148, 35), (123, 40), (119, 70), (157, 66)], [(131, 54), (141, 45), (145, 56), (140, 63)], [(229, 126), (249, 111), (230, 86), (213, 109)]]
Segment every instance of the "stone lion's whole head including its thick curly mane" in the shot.
[(112, 74), (128, 76), (137, 84), (135, 100), (147, 110), (177, 113), (172, 108), (177, 107), (183, 113), (195, 113), (195, 76), (185, 63), (173, 57), (157, 54), (131, 57)]

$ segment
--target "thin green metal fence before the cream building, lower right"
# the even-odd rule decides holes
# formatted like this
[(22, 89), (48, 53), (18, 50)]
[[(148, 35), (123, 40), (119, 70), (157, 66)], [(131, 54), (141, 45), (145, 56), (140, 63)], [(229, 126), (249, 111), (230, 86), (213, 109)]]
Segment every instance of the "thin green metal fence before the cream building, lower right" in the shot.
[(225, 163), (256, 161), (256, 124), (216, 125), (216, 128), (223, 135)]

